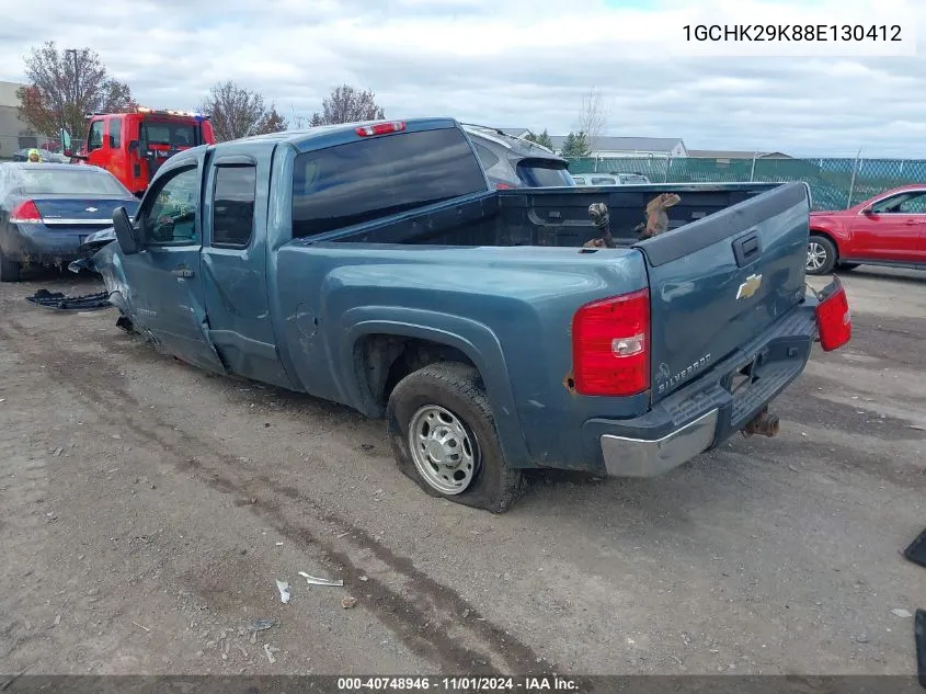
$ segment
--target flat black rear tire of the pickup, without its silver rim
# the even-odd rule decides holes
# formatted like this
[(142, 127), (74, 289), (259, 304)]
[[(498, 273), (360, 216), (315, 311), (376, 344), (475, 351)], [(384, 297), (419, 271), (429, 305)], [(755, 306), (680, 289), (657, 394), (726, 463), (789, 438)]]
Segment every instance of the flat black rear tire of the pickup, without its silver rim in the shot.
[[(410, 426), (415, 412), (426, 406), (444, 408), (457, 418), (476, 451), (471, 480), (458, 493), (442, 492), (415, 466), (410, 450)], [(386, 424), (399, 469), (432, 497), (504, 513), (524, 491), (522, 471), (508, 467), (504, 460), (482, 378), (472, 366), (442, 362), (402, 378), (389, 396)]]

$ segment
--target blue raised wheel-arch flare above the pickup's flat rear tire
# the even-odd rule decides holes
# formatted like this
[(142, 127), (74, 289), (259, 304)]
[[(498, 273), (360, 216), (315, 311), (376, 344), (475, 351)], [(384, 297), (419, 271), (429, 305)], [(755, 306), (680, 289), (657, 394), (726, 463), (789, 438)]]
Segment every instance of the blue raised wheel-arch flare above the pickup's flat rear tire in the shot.
[(502, 345), (488, 326), (422, 309), (364, 306), (345, 311), (340, 328), (335, 332), (341, 335), (340, 341), (331, 346), (332, 354), (338, 355), (339, 387), (345, 402), (359, 405), (367, 400), (362, 390), (361, 374), (354, 366), (354, 346), (365, 335), (416, 338), (455, 348), (466, 354), (482, 375), (505, 462), (512, 467), (529, 465)]

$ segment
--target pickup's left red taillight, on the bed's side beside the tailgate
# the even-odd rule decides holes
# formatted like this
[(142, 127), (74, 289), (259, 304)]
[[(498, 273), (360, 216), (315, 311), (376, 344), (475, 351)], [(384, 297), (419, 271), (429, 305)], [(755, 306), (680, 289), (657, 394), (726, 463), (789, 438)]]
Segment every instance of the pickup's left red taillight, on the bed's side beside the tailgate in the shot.
[(572, 373), (580, 395), (650, 388), (650, 291), (582, 306), (572, 319)]

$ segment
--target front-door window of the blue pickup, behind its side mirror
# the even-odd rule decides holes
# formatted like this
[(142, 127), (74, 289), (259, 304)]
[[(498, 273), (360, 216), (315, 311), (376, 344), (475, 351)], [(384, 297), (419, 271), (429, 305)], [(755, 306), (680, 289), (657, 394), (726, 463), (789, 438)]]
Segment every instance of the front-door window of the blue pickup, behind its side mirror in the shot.
[(142, 213), (145, 242), (149, 246), (199, 243), (199, 171), (196, 167), (175, 173), (156, 191)]

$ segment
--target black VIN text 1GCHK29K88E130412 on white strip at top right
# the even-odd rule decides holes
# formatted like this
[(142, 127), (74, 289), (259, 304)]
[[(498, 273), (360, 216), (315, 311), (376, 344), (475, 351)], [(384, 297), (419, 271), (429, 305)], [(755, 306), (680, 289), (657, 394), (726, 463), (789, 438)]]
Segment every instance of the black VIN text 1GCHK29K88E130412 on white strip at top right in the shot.
[(698, 42), (892, 42), (900, 24), (685, 24), (685, 41)]

